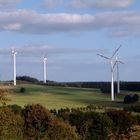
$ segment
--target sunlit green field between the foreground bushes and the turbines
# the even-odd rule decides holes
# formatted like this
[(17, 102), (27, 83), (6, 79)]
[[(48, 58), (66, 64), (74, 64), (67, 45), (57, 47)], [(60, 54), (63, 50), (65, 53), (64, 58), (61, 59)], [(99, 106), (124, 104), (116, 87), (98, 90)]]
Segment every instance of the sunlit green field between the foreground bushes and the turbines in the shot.
[[(26, 88), (25, 93), (19, 92), (21, 87)], [(85, 107), (89, 104), (122, 107), (124, 106), (123, 97), (123, 95), (117, 95), (112, 102), (110, 94), (102, 94), (98, 89), (22, 84), (9, 90), (8, 98), (11, 101), (8, 104), (24, 106), (40, 103), (48, 109)]]

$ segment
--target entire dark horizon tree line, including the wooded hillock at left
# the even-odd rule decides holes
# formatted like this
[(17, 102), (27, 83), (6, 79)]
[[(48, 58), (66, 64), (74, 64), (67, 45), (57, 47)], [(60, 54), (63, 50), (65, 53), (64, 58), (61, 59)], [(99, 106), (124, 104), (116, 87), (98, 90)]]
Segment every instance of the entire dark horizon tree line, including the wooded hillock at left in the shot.
[[(30, 76), (18, 76), (17, 80), (26, 81), (30, 83), (43, 84), (43, 81), (39, 81), (36, 78)], [(96, 88), (100, 89), (103, 93), (110, 93), (111, 84), (106, 81), (99, 82), (56, 82), (56, 81), (46, 81), (46, 85), (49, 86), (63, 86), (63, 87), (80, 87), (80, 88)], [(114, 82), (114, 89), (117, 92), (117, 82)], [(120, 90), (125, 91), (140, 91), (140, 82), (129, 82), (121, 81)]]

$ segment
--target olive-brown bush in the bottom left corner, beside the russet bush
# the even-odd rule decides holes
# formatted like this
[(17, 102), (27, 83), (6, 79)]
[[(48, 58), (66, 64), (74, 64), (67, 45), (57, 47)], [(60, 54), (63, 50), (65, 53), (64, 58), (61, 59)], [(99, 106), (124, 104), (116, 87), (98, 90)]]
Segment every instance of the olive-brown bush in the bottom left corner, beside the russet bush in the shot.
[(8, 107), (0, 108), (0, 139), (15, 140), (23, 138), (23, 119)]

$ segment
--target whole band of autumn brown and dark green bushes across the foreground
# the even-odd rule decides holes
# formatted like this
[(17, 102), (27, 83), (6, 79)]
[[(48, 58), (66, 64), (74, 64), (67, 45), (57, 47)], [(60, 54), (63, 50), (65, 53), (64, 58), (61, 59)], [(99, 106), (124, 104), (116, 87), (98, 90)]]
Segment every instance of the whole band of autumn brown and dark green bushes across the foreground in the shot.
[[(82, 110), (82, 111), (81, 111)], [(40, 104), (0, 108), (0, 139), (2, 140), (108, 140), (128, 138), (133, 126), (140, 126), (140, 116), (122, 110), (93, 112), (60, 109), (48, 111)], [(138, 132), (137, 132), (138, 133)]]

